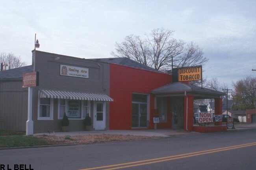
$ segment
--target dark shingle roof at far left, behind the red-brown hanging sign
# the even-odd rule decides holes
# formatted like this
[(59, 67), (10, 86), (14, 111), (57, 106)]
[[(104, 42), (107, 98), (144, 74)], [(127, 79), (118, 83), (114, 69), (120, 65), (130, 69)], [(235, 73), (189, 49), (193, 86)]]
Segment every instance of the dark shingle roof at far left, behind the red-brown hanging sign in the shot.
[(0, 79), (22, 78), (24, 73), (33, 72), (32, 65), (0, 71)]

